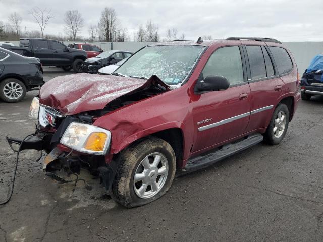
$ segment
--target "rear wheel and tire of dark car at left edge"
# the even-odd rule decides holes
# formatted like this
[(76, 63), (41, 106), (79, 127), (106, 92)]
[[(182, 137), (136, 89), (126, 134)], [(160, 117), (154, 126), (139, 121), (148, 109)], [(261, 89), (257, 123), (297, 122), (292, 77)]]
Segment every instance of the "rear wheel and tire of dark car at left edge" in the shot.
[(0, 83), (0, 98), (5, 102), (20, 102), (26, 92), (25, 84), (18, 79), (8, 78)]

